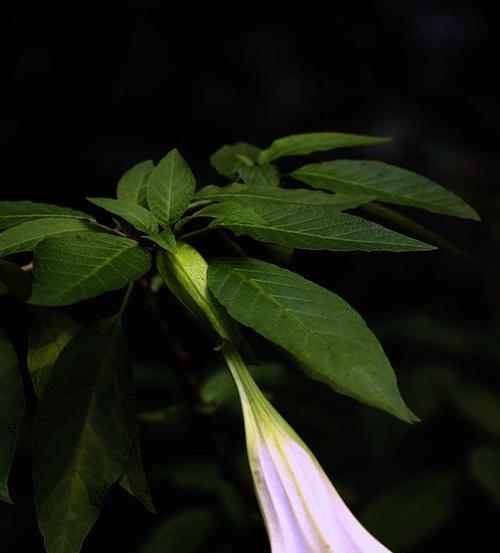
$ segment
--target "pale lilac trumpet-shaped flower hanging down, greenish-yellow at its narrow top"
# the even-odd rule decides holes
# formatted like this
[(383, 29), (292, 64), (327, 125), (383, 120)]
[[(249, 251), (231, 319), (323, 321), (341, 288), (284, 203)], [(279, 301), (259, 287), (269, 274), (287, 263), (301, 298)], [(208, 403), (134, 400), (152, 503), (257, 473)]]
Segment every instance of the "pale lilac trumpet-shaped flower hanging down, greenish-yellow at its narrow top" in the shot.
[(248, 457), (272, 553), (390, 553), (354, 517), (318, 461), (224, 348), (243, 407)]

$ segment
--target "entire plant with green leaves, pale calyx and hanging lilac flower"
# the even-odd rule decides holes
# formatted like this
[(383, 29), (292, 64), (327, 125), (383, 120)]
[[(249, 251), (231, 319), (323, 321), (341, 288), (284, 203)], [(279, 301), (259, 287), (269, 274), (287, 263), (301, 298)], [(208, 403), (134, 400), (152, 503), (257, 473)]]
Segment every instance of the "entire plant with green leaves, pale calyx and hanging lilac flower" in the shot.
[[(211, 163), (227, 184), (198, 187), (173, 149), (156, 165), (144, 161), (129, 169), (116, 198), (88, 198), (91, 211), (101, 208), (109, 226), (68, 207), (0, 202), (0, 256), (7, 258), (0, 261), (1, 292), (24, 302), (30, 320), (27, 347), (17, 348), (27, 350), (26, 362), (7, 337), (10, 329), (0, 331), (0, 497), (11, 502), (8, 479), (27, 367), (38, 398), (32, 430), (35, 507), (48, 553), (80, 551), (114, 484), (154, 510), (122, 315), (131, 295), (146, 291), (154, 302), (161, 284), (206, 331), (234, 379), (273, 553), (388, 551), (357, 521), (247, 366), (257, 363), (249, 344), (260, 335), (335, 392), (406, 423), (418, 420), (360, 315), (334, 292), (285, 268), (295, 249), (457, 249), (389, 207), (479, 219), (429, 178), (352, 159), (280, 170), (284, 157), (387, 140), (324, 132), (280, 138), (266, 149), (226, 145)], [(412, 236), (393, 230), (398, 226)], [(198, 237), (209, 234), (210, 248), (200, 253), (206, 240)], [(234, 256), (220, 256), (227, 251)], [(60, 309), (120, 289), (117, 312), (91, 324)], [(151, 316), (163, 317), (158, 304)], [(173, 551), (168, 543), (167, 550)]]

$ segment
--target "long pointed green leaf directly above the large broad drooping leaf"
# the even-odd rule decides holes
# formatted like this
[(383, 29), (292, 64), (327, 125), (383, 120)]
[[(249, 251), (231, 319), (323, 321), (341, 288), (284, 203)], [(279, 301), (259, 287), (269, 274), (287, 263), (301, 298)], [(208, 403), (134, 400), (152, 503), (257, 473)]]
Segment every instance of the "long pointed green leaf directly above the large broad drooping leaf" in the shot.
[(236, 235), (306, 250), (425, 251), (434, 246), (331, 207), (285, 205), (273, 199), (224, 200), (198, 211), (210, 226)]

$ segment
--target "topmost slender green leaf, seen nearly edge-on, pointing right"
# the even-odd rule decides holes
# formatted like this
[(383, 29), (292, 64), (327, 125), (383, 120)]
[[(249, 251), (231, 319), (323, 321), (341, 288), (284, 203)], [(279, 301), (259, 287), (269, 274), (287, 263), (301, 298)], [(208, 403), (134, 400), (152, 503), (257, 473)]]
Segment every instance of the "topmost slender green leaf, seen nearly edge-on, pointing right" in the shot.
[(269, 148), (260, 153), (259, 163), (269, 163), (280, 157), (302, 156), (336, 148), (384, 144), (390, 141), (390, 138), (385, 137), (338, 132), (294, 134), (275, 140)]

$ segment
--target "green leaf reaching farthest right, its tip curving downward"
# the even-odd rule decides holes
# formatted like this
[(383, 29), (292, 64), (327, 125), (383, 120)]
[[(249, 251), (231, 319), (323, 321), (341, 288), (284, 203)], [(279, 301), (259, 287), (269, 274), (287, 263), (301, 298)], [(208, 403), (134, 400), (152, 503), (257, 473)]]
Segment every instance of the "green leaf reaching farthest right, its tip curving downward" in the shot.
[(381, 161), (342, 159), (312, 163), (293, 171), (291, 176), (314, 188), (368, 194), (383, 202), (479, 220), (472, 207), (446, 188), (427, 177)]

